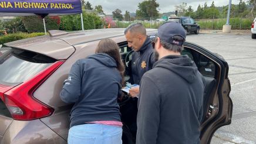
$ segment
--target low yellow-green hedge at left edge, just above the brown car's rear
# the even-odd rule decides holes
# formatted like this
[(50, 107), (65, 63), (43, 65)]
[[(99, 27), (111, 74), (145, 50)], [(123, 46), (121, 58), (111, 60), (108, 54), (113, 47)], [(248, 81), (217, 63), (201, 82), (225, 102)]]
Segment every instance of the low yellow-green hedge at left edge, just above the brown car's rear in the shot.
[(42, 35), (45, 33), (11, 33), (0, 37), (0, 44)]

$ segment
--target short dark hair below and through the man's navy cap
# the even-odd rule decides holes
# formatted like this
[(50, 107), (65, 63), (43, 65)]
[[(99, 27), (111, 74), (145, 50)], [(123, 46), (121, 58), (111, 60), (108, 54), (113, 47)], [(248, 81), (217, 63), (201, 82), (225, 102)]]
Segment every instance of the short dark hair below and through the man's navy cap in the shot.
[[(157, 37), (158, 36), (156, 36), (155, 40), (157, 40)], [(184, 41), (184, 38), (181, 36), (173, 36), (173, 40), (177, 40), (178, 42), (180, 42), (180, 41)], [(177, 52), (180, 53), (183, 50), (183, 46), (178, 46), (177, 44), (167, 43), (161, 39), (160, 39), (160, 44), (164, 47), (164, 49), (171, 50), (175, 53), (177, 53)]]

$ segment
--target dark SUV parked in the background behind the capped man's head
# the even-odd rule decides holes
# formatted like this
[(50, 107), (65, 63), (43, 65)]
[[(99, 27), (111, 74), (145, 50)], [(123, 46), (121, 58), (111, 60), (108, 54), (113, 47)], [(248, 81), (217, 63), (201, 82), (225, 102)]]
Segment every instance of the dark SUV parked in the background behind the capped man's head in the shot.
[(181, 23), (181, 25), (183, 26), (187, 33), (195, 33), (197, 35), (200, 31), (200, 25), (198, 25), (196, 21), (192, 18), (174, 17), (169, 18), (169, 21)]

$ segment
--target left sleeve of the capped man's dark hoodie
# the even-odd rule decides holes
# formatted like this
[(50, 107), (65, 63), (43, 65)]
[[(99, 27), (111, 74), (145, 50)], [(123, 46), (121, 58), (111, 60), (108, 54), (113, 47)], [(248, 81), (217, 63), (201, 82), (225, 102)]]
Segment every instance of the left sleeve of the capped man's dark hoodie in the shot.
[(160, 93), (150, 78), (143, 76), (137, 115), (136, 143), (156, 144), (160, 122)]

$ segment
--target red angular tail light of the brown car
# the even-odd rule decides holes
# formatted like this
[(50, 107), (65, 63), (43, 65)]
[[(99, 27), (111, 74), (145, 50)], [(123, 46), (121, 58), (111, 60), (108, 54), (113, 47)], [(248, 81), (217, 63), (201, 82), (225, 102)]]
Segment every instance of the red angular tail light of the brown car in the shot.
[(6, 107), (11, 112), (12, 118), (26, 121), (52, 114), (53, 108), (36, 100), (33, 97), (33, 92), (63, 63), (64, 61), (56, 61), (31, 80), (25, 81), (4, 93), (3, 99)]

